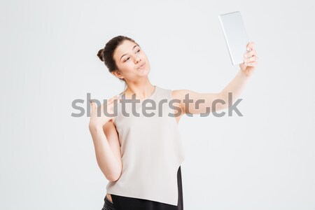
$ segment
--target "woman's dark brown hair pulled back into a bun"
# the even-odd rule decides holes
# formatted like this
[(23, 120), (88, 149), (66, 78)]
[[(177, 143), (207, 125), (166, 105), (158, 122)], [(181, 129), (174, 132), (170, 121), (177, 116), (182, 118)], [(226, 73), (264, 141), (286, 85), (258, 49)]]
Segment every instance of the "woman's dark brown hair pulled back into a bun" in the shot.
[[(129, 38), (127, 36), (115, 36), (114, 38), (111, 38), (111, 40), (106, 43), (103, 49), (97, 52), (97, 56), (99, 57), (99, 59), (102, 60), (102, 62), (104, 62), (105, 66), (109, 69), (110, 73), (118, 69), (115, 59), (113, 59), (113, 54), (116, 48), (118, 48), (118, 46), (121, 45), (123, 41), (125, 40), (132, 41), (133, 43), (139, 45), (132, 38)], [(125, 82), (125, 87), (126, 87), (127, 86), (126, 80), (124, 78), (119, 78), (119, 79)]]

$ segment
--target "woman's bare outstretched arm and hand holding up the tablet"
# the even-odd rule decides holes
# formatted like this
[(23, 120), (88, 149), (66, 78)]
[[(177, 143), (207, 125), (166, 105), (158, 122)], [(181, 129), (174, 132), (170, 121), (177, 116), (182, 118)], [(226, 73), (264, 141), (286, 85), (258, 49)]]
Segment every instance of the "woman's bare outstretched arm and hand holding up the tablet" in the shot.
[[(221, 92), (199, 93), (192, 90), (173, 90), (174, 99), (181, 100), (179, 104), (181, 111), (186, 114), (211, 113), (212, 111), (227, 109), (232, 105), (258, 65), (257, 52), (253, 45), (253, 42), (246, 45), (247, 52), (244, 54), (244, 63), (239, 64), (239, 72)], [(232, 102), (230, 103), (228, 103), (229, 92), (232, 92)], [(186, 101), (184, 101), (185, 99)], [(215, 106), (215, 110), (212, 105)]]

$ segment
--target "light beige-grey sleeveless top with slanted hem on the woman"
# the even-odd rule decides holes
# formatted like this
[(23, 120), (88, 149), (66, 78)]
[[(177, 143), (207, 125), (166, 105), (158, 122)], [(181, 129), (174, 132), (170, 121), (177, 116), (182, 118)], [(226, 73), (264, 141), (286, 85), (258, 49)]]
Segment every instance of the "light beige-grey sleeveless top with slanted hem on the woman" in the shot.
[[(127, 100), (125, 94), (120, 99)], [(169, 105), (172, 90), (155, 85), (145, 100), (135, 103), (133, 99), (134, 103), (125, 103), (125, 108), (123, 100), (118, 102), (114, 120), (123, 172), (117, 181), (109, 181), (107, 193), (177, 205), (177, 171), (185, 151), (174, 117), (176, 110), (173, 103)]]

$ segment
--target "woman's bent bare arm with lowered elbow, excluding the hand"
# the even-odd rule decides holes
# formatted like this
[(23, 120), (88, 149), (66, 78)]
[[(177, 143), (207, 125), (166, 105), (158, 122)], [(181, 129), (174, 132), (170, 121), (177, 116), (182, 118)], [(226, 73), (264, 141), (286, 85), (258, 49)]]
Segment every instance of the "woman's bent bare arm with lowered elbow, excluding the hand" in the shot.
[(90, 126), (97, 164), (109, 181), (117, 181), (122, 172), (120, 144), (116, 127), (112, 122)]

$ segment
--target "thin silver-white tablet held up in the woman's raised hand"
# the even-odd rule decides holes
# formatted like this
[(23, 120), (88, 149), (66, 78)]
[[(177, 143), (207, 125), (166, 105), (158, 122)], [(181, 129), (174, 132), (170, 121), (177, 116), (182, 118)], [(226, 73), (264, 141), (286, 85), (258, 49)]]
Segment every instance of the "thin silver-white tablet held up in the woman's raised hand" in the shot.
[(248, 37), (241, 18), (241, 13), (239, 11), (225, 13), (218, 15), (218, 18), (221, 22), (225, 43), (228, 46), (232, 64), (237, 65), (243, 63)]

